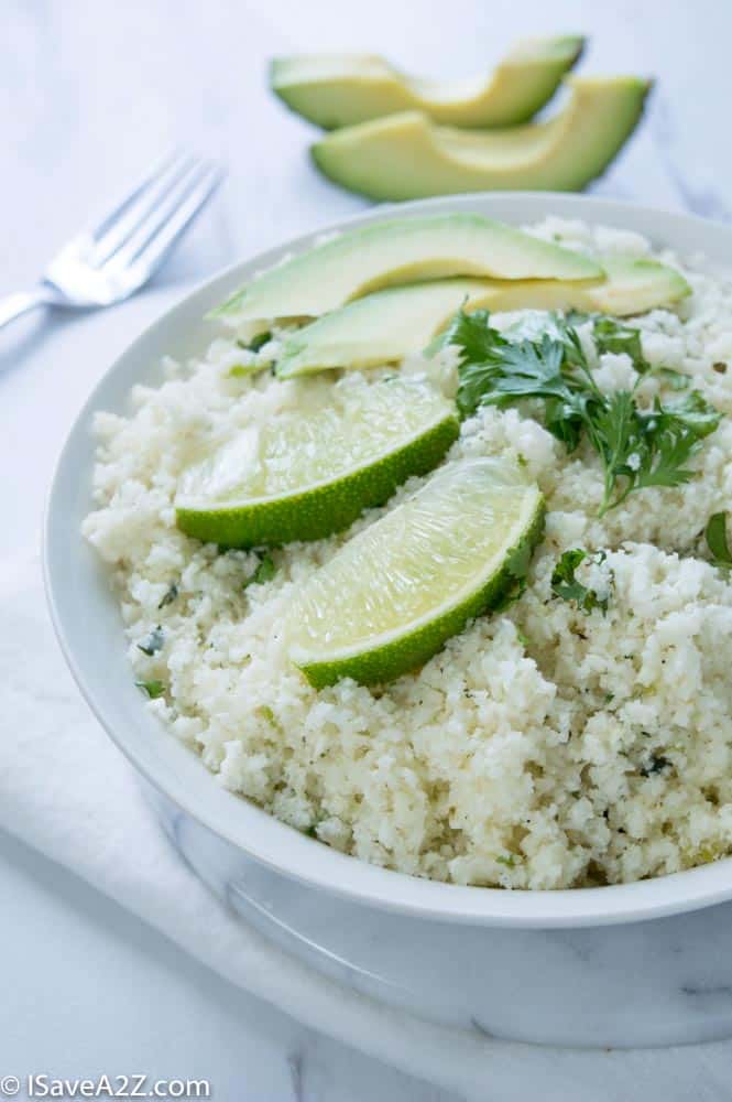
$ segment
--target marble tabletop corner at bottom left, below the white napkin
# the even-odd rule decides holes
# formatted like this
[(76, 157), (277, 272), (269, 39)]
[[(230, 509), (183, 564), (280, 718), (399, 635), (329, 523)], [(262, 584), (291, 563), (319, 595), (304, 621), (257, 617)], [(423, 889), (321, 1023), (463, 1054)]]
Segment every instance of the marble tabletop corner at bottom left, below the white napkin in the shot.
[(219, 1102), (452, 1098), (244, 995), (4, 834), (0, 892), (0, 1077), (200, 1078)]

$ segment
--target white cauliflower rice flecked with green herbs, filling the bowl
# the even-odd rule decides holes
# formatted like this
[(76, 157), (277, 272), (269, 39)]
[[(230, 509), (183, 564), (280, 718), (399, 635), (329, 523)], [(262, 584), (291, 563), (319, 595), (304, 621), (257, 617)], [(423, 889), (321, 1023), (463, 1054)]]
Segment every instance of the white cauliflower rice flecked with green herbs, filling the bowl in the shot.
[[(573, 222), (534, 233), (649, 252), (634, 234)], [(272, 551), (274, 575), (247, 587), (256, 554), (220, 553), (175, 527), (177, 479), (200, 435), (223, 439), (294, 407), (323, 379), (232, 376), (252, 354), (217, 339), (204, 360), (167, 361), (159, 389), (135, 387), (130, 417), (97, 415), (97, 508), (84, 532), (111, 568), (131, 676), (163, 682), (145, 706), (220, 785), (346, 853), (459, 884), (620, 883), (732, 852), (732, 586), (702, 539), (732, 498), (732, 282), (662, 259), (693, 294), (632, 324), (648, 360), (689, 375), (726, 414), (692, 460), (698, 478), (635, 493), (600, 520), (589, 447), (570, 456), (529, 417), (479, 411), (447, 462), (509, 454), (538, 482), (547, 529), (528, 587), (378, 691), (310, 688), (281, 625), (303, 581), (383, 510), (350, 533)], [(583, 341), (603, 390), (632, 385), (627, 356), (598, 358), (589, 332)], [(455, 391), (449, 353), (403, 370)], [(665, 377), (645, 377), (640, 393), (668, 397)], [(551, 594), (557, 560), (575, 547), (608, 552), (578, 572), (609, 596), (605, 615)], [(159, 625), (164, 645), (145, 655), (139, 644)]]

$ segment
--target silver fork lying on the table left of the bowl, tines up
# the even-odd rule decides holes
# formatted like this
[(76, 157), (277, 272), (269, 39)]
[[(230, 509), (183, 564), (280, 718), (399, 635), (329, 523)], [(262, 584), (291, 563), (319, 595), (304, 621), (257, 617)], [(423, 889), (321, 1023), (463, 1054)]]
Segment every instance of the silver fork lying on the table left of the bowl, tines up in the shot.
[(0, 328), (36, 306), (88, 310), (134, 294), (223, 179), (214, 161), (173, 153), (53, 258), (32, 291), (0, 299)]

